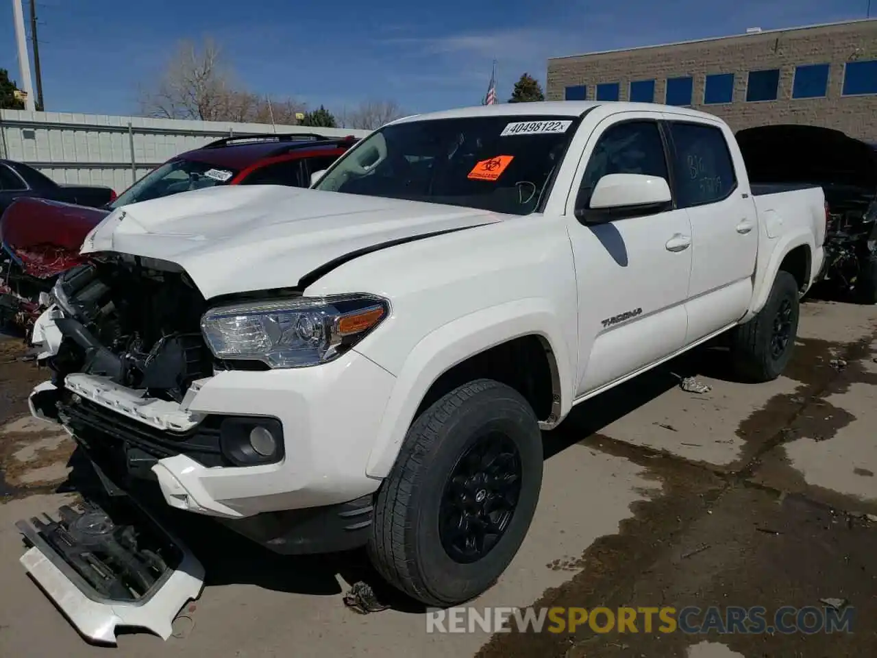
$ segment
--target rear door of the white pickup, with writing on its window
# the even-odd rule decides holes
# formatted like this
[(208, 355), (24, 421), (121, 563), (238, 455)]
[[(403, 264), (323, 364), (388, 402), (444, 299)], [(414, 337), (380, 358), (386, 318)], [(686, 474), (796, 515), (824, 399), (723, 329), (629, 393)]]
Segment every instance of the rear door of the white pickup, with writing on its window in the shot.
[(667, 122), (674, 197), (691, 223), (686, 343), (743, 317), (752, 301), (759, 231), (745, 175), (737, 175), (721, 123)]

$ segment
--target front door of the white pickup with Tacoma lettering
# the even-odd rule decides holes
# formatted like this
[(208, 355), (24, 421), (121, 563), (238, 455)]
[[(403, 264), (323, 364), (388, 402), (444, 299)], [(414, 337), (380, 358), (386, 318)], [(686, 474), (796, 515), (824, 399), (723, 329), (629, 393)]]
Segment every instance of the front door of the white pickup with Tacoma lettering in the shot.
[[(577, 206), (608, 174), (669, 182), (667, 153), (653, 112), (624, 112), (597, 125), (585, 147)], [(684, 345), (691, 271), (688, 213), (630, 213), (606, 224), (570, 219), (579, 290), (581, 397)]]

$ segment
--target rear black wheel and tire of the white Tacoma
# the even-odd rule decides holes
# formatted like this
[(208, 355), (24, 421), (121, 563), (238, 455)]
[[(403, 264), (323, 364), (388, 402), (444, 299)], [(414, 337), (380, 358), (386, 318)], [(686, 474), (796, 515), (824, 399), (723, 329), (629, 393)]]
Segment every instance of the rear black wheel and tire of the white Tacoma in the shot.
[(777, 272), (764, 308), (731, 333), (731, 358), (740, 377), (761, 383), (782, 374), (795, 347), (800, 311), (795, 277)]

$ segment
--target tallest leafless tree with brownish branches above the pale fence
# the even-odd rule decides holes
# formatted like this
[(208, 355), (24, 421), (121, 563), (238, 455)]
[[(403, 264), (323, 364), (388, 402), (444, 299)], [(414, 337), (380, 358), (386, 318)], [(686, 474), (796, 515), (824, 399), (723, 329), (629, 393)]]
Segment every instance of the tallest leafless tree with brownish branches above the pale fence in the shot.
[(149, 117), (260, 124), (296, 124), (303, 104), (269, 99), (237, 82), (212, 39), (202, 46), (182, 41), (158, 80), (140, 90), (140, 111)]

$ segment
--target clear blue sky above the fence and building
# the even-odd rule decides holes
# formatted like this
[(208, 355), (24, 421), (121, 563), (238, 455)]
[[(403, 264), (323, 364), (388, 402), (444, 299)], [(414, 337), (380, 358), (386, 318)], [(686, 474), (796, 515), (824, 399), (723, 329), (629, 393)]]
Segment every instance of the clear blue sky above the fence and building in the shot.
[[(25, 0), (25, 15), (27, 11)], [(9, 2), (0, 68), (18, 79)], [(407, 111), (501, 100), (545, 60), (667, 41), (864, 18), (867, 0), (37, 0), (46, 109), (129, 114), (178, 39), (211, 36), (249, 89), (331, 110), (366, 98)], [(877, 14), (874, 2), (872, 15)], [(2, 5), (0, 5), (2, 6)]]

